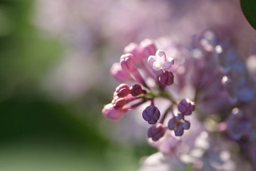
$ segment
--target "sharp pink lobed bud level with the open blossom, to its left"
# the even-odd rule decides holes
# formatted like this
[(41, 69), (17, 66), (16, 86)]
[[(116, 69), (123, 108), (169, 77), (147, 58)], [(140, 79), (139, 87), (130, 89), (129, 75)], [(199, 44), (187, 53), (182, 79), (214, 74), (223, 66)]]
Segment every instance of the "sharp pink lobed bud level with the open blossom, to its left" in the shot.
[(126, 53), (120, 57), (120, 65), (122, 69), (127, 72), (132, 72), (137, 69), (135, 59), (131, 53)]

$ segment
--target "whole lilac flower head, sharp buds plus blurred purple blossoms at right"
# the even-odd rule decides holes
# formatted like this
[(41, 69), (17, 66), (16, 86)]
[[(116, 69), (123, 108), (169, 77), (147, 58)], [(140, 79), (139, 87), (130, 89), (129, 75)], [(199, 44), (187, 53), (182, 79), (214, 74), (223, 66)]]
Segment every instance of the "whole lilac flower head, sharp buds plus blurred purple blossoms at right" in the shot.
[[(251, 169), (256, 168), (255, 79), (228, 39), (207, 29), (192, 36), (187, 48), (170, 37), (160, 37), (131, 43), (124, 52), (110, 73), (134, 85), (119, 85), (102, 114), (118, 120), (149, 102), (142, 118), (152, 125), (147, 131), (148, 143), (160, 152), (198, 170), (234, 169), (236, 161), (225, 158), (232, 149), (220, 148), (221, 142), (214, 141), (221, 136), (222, 141), (237, 143), (246, 154), (242, 160), (249, 157)], [(155, 105), (158, 98), (170, 104), (164, 112)], [(220, 165), (204, 163), (203, 154), (213, 152)]]

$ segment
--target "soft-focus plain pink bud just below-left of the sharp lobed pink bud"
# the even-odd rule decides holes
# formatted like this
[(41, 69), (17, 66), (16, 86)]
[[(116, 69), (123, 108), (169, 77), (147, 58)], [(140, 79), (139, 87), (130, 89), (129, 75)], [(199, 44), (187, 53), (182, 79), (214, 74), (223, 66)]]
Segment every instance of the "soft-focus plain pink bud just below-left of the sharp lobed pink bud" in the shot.
[(120, 82), (125, 82), (127, 80), (134, 80), (129, 72), (122, 69), (119, 63), (114, 63), (110, 69), (110, 74)]

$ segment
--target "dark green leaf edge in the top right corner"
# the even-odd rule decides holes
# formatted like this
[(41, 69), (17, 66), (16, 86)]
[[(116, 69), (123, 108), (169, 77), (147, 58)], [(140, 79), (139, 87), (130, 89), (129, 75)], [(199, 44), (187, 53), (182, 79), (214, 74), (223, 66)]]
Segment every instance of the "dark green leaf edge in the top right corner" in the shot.
[(240, 4), (245, 18), (256, 30), (256, 0), (240, 0)]

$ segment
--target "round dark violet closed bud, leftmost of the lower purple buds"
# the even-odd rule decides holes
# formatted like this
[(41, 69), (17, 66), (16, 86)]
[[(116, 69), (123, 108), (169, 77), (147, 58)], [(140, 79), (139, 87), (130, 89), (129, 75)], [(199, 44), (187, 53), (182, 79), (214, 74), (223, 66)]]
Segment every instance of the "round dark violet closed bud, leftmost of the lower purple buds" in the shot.
[(158, 110), (157, 107), (150, 105), (143, 110), (142, 117), (149, 124), (155, 124), (156, 122), (158, 122), (158, 119), (160, 118), (160, 111)]

